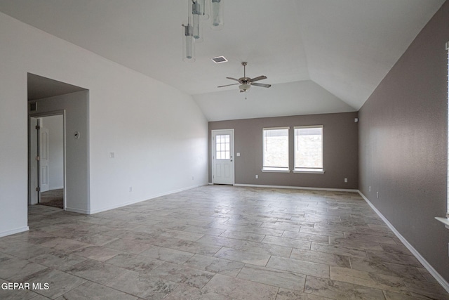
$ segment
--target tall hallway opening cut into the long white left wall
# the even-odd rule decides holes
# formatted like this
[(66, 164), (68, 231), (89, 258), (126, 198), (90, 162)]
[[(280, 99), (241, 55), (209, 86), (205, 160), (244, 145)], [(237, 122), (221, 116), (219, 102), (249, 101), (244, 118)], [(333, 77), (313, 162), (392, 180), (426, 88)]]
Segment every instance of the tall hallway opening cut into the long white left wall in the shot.
[[(88, 90), (35, 74), (27, 79), (28, 204), (87, 213)], [(69, 141), (67, 131), (74, 133)]]

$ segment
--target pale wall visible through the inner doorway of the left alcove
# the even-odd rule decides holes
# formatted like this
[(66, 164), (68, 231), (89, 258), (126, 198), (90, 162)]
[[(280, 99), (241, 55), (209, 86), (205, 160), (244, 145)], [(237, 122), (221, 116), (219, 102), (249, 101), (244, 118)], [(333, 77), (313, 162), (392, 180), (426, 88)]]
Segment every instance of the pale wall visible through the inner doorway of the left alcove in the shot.
[(63, 121), (62, 115), (41, 118), (41, 127), (48, 129), (48, 185), (50, 190), (64, 188)]

